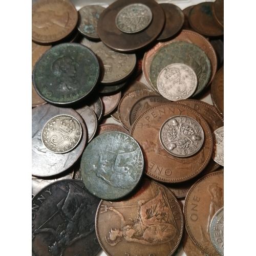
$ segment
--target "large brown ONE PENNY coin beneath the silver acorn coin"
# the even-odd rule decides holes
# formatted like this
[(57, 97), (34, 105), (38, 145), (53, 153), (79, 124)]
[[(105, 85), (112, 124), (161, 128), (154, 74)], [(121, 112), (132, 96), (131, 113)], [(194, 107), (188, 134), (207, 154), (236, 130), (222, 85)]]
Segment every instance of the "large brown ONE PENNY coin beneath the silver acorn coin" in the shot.
[[(177, 115), (189, 116), (200, 123), (205, 140), (194, 156), (179, 158), (168, 154), (159, 140), (163, 122)], [(145, 174), (160, 182), (177, 183), (194, 178), (206, 167), (213, 152), (213, 139), (209, 125), (196, 111), (185, 105), (165, 103), (148, 109), (132, 124), (129, 131), (142, 148)]]

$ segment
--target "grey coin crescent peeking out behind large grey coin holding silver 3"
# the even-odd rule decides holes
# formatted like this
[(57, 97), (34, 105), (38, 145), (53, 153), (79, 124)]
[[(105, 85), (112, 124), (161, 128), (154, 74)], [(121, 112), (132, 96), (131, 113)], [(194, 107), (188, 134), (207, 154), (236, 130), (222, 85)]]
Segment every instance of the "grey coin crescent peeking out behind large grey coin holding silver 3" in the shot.
[(86, 123), (87, 131), (88, 131), (88, 142), (92, 140), (94, 137), (97, 127), (98, 127), (98, 118), (95, 112), (89, 106), (82, 106), (79, 109), (75, 109), (76, 112), (80, 114)]

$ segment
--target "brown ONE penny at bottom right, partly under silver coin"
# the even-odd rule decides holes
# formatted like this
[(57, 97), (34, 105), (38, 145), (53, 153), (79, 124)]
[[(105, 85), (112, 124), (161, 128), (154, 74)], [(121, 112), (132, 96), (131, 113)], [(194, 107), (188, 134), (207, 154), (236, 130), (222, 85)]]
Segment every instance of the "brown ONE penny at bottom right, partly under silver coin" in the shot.
[(210, 240), (210, 221), (223, 207), (224, 172), (214, 172), (199, 179), (188, 191), (184, 203), (184, 217), (188, 236), (200, 250), (217, 256)]

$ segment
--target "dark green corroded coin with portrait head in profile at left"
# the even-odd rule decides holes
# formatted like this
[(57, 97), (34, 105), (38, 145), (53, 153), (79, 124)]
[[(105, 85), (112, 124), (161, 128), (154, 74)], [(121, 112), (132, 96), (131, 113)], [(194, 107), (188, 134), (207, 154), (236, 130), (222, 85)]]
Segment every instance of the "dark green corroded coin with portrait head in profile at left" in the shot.
[(99, 79), (99, 62), (86, 46), (60, 44), (36, 62), (33, 83), (37, 93), (53, 104), (70, 104), (87, 97)]

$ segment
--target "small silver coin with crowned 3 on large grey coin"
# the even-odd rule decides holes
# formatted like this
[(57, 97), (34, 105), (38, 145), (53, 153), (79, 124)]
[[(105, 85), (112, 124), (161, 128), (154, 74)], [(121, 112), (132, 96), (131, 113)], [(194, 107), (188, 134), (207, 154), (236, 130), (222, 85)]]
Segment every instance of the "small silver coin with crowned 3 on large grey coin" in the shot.
[(80, 122), (69, 115), (51, 118), (42, 129), (42, 143), (53, 153), (72, 151), (82, 137)]

